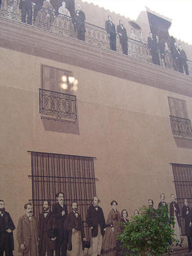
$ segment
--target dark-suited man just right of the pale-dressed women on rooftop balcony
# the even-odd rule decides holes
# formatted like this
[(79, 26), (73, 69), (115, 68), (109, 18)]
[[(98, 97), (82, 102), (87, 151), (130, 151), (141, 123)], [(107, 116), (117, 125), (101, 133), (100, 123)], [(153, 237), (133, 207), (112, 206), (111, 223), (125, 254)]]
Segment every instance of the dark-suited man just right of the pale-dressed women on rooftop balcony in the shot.
[(81, 10), (81, 6), (77, 4), (77, 10), (74, 16), (74, 27), (77, 30), (77, 39), (84, 41), (85, 40), (85, 14)]

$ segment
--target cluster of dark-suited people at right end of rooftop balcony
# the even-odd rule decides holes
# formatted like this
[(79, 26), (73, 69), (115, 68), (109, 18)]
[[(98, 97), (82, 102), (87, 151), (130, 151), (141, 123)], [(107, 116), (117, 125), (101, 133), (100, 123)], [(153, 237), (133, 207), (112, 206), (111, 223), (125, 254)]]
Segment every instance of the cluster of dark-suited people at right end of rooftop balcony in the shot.
[(152, 56), (152, 62), (156, 65), (167, 67), (167, 59), (165, 51), (171, 54), (171, 59), (173, 61), (173, 69), (189, 75), (189, 68), (187, 65), (187, 55), (182, 49), (182, 45), (177, 45), (175, 38), (171, 36), (170, 44), (168, 46), (164, 41), (160, 41), (157, 35), (153, 35), (149, 32), (149, 37), (147, 38), (147, 45)]

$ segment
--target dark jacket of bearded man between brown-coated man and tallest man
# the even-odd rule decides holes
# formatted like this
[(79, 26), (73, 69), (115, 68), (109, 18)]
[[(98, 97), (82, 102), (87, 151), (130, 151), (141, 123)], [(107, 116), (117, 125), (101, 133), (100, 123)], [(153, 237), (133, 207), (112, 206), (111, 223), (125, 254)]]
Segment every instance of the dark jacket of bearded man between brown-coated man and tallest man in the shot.
[[(46, 244), (43, 243), (43, 236), (47, 236), (48, 231), (48, 222), (51, 219), (51, 211), (47, 214), (46, 218), (44, 216), (44, 213), (40, 213), (39, 219), (38, 219), (38, 248), (41, 251), (43, 247), (46, 246)], [(48, 236), (47, 236), (48, 237)]]

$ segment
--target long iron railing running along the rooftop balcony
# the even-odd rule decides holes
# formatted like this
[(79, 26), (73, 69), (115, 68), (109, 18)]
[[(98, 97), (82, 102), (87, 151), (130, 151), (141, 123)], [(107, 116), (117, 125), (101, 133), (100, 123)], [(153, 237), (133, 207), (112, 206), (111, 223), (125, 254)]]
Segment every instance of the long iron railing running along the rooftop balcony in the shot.
[[(70, 16), (59, 14), (53, 8), (51, 10), (45, 8), (38, 8), (37, 4), (32, 3), (29, 0), (26, 1), (24, 8), (21, 7), (21, 0), (2, 0), (0, 16), (14, 21), (28, 23), (40, 27), (43, 30), (49, 30), (52, 33), (60, 34), (62, 36), (69, 36), (71, 38), (77, 38), (77, 32), (75, 31), (73, 19)], [(29, 5), (27, 5), (29, 1)], [(104, 49), (110, 49), (110, 43), (106, 30), (96, 25), (85, 23), (85, 42), (92, 45), (97, 45)], [(117, 52), (122, 53), (121, 44), (119, 42), (119, 35), (117, 34)], [(160, 55), (160, 66), (167, 69), (173, 69), (178, 71), (176, 63), (173, 61), (171, 53), (165, 51)], [(147, 62), (152, 62), (152, 56), (146, 43), (142, 43), (139, 40), (128, 38), (128, 56), (137, 58)], [(189, 69), (189, 75), (192, 75), (192, 62), (187, 61)]]

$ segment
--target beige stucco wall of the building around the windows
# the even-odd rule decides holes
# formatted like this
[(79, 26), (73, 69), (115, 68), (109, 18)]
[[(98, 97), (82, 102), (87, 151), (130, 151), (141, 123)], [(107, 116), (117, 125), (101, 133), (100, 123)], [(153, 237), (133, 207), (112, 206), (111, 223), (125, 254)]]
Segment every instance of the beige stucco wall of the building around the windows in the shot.
[[(80, 135), (44, 130), (38, 113), (42, 64), (73, 71), (78, 79)], [(148, 198), (157, 207), (162, 192), (170, 202), (169, 163), (192, 160), (191, 150), (177, 148), (171, 134), (167, 96), (186, 100), (191, 119), (190, 97), (3, 48), (0, 77), (0, 195), (15, 224), (32, 199), (27, 150), (96, 156), (97, 196), (106, 218), (112, 199), (130, 216)]]

